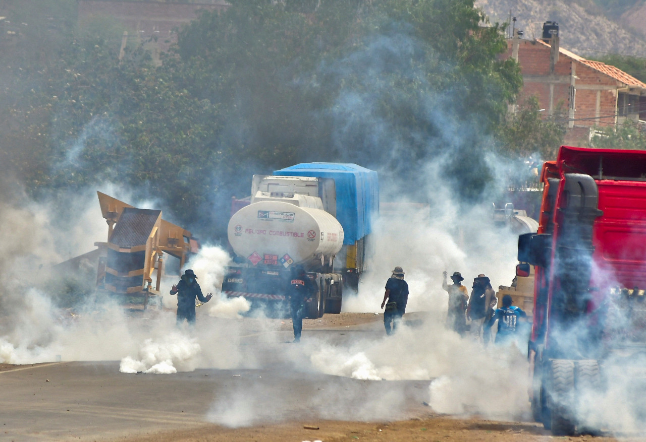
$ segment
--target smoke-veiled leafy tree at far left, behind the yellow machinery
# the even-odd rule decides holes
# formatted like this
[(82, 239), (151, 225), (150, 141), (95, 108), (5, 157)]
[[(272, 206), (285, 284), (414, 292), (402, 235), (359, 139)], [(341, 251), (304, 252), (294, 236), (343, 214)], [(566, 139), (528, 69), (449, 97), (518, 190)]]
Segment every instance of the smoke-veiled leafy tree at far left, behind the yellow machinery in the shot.
[(0, 152), (36, 196), (110, 181), (194, 223), (216, 190), (208, 176), (221, 156), (205, 145), (217, 106), (178, 89), (141, 47), (120, 61), (120, 34), (110, 23), (65, 28), (47, 59), (16, 55)]

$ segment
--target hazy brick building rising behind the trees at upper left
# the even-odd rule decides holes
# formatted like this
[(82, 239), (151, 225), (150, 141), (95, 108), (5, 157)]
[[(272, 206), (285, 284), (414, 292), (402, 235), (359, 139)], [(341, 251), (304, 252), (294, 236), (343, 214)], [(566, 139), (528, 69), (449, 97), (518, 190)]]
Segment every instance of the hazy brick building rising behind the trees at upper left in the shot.
[(127, 28), (128, 39), (152, 39), (153, 57), (158, 59), (176, 43), (175, 28), (196, 19), (202, 10), (222, 10), (227, 7), (224, 0), (211, 3), (172, 3), (160, 1), (133, 0), (78, 0), (78, 21), (81, 25), (93, 17), (109, 17)]

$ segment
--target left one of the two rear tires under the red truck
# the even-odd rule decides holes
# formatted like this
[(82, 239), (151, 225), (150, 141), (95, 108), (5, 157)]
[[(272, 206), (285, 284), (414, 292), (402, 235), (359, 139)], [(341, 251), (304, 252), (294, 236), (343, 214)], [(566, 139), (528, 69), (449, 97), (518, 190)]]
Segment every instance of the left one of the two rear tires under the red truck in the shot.
[[(574, 405), (574, 361), (552, 359), (547, 390), (549, 429), (554, 436), (572, 436), (576, 425), (572, 416)], [(545, 425), (543, 421), (543, 425)], [(545, 425), (545, 428), (548, 428)]]

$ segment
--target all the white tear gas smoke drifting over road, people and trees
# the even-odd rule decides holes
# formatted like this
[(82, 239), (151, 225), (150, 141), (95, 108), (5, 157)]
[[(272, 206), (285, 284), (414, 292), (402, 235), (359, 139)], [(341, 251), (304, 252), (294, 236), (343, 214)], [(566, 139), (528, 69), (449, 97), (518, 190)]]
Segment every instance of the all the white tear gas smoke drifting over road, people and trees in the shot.
[[(74, 237), (80, 246), (77, 234), (89, 223), (89, 218), (81, 217), (83, 222), (79, 225), (82, 227), (77, 225), (76, 230), (52, 230), (46, 208), (29, 203), (3, 204), (0, 210), (0, 281), (5, 290), (0, 297), (0, 306), (6, 321), (0, 328), (0, 363), (54, 361), (61, 355), (65, 361), (121, 360), (121, 371), (130, 373), (173, 373), (196, 367), (279, 367), (284, 376), (293, 377), (295, 383), (301, 382), (301, 377), (320, 379), (321, 390), (304, 392), (300, 398), (286, 398), (276, 388), (258, 380), (218, 395), (207, 418), (233, 427), (309, 416), (359, 420), (407, 417), (406, 392), (397, 381), (410, 379), (430, 383), (425, 397), (437, 412), (526, 419), (529, 414), (528, 379), (523, 352), (513, 346), (483, 348), (470, 338), (461, 338), (444, 328), (448, 297), (441, 288), (443, 270), (449, 274), (461, 272), (467, 287), (470, 287), (471, 278), (481, 273), (492, 279), (494, 287), (507, 285), (512, 280), (517, 237), (496, 228), (484, 204), (471, 206), (459, 200), (452, 186), (465, 177), (481, 177), (483, 166), (494, 177), (501, 176), (499, 171), (506, 170), (501, 166), (506, 160), (488, 153), (465, 155), (470, 152), (465, 146), (479, 137), (474, 129), (477, 125), (461, 122), (455, 115), (457, 111), (452, 109), (455, 100), (449, 94), (426, 94), (432, 88), (421, 88), (422, 92), (415, 97), (421, 104), (413, 110), (415, 117), (428, 122), (428, 127), (432, 128), (428, 133), (402, 137), (400, 128), (371, 113), (377, 107), (374, 103), (390, 88), (390, 83), (384, 81), (387, 78), (384, 70), (397, 65), (411, 69), (410, 79), (425, 77), (410, 65), (410, 61), (392, 63), (381, 56), (394, 54), (397, 61), (415, 59), (414, 43), (408, 37), (380, 38), (374, 45), (366, 45), (365, 52), (359, 56), (333, 66), (340, 78), (354, 75), (364, 79), (366, 92), (357, 94), (342, 90), (333, 106), (332, 122), (337, 126), (333, 143), (340, 152), (339, 160), (371, 166), (364, 162), (369, 161), (371, 152), (377, 152), (377, 149), (391, 152), (391, 159), (402, 165), (397, 170), (402, 179), (393, 179), (397, 173), (392, 170), (379, 170), (384, 194), (395, 196), (396, 201), (402, 201), (402, 195), (417, 194), (421, 201), (428, 202), (425, 213), (401, 210), (397, 217), (380, 219), (372, 238), (375, 252), (370, 272), (361, 281), (358, 294), (344, 295), (344, 311), (380, 312), (386, 279), (394, 266), (401, 265), (411, 292), (407, 310), (426, 312), (421, 316), (424, 319), (421, 324), (404, 325), (391, 337), (370, 334), (353, 337), (344, 343), (308, 336), (306, 330), (299, 346), (284, 345), (278, 334), (260, 333), (260, 345), (251, 347), (241, 345), (244, 329), (242, 321), (236, 319), (249, 310), (248, 302), (242, 298), (214, 297), (211, 303), (202, 307), (208, 308), (208, 316), (198, 310), (194, 333), (177, 330), (174, 312), (167, 311), (159, 312), (154, 323), (133, 320), (120, 308), (110, 305), (101, 306), (99, 312), (81, 309), (78, 316), (68, 314), (63, 319), (61, 311), (52, 304), (50, 294), (30, 286), (32, 281), (20, 276), (26, 274), (25, 269), (57, 263), (67, 257), (65, 254), (60, 256), (57, 241)], [(399, 50), (402, 46), (405, 50)], [(424, 69), (426, 67), (424, 65)], [(401, 104), (399, 98), (391, 99), (395, 104)], [(101, 122), (93, 120), (88, 129), (100, 130)], [(83, 132), (59, 168), (69, 166), (79, 156), (85, 136), (88, 135)], [(112, 134), (106, 136), (109, 138)], [(355, 139), (360, 139), (362, 144), (346, 148), (355, 146)], [(417, 179), (415, 183), (423, 181), (425, 185), (412, 190), (406, 183), (401, 185), (410, 178), (402, 170), (408, 170), (406, 161), (413, 163), (411, 153), (419, 151), (420, 146), (429, 160), (417, 169), (421, 170), (423, 179)], [(456, 158), (465, 161), (465, 166), (449, 177), (454, 180), (451, 182), (446, 166), (455, 166)], [(479, 162), (477, 167), (474, 161)], [(244, 179), (248, 180), (249, 176)], [(483, 195), (482, 201), (489, 203), (486, 192)], [(92, 210), (96, 212), (96, 201), (92, 204)], [(67, 219), (79, 219), (78, 213), (68, 214)], [(103, 225), (100, 216), (96, 219)], [(77, 234), (66, 235), (67, 232)], [(105, 225), (87, 244), (104, 237)], [(69, 254), (72, 254), (72, 248), (69, 248)], [(85, 251), (87, 249), (76, 250)], [(224, 250), (207, 246), (187, 266), (200, 278), (203, 292), (218, 295), (224, 266), (229, 259)], [(165, 279), (166, 287), (175, 282), (171, 278)], [(174, 298), (169, 296), (164, 297), (164, 302), (169, 299), (174, 303)], [(295, 373), (298, 376), (294, 376)], [(322, 375), (335, 377), (329, 379)], [(625, 422), (625, 415), (635, 411), (627, 410), (629, 405), (621, 400), (630, 383), (624, 383), (625, 377), (618, 373), (612, 372), (610, 376), (618, 384), (617, 388), (610, 389), (604, 400), (591, 392), (592, 396), (587, 397), (594, 399), (590, 403), (596, 407), (585, 412), (594, 419)], [(643, 414), (644, 409), (641, 407), (638, 411)], [(635, 427), (637, 420), (631, 419), (627, 425)]]

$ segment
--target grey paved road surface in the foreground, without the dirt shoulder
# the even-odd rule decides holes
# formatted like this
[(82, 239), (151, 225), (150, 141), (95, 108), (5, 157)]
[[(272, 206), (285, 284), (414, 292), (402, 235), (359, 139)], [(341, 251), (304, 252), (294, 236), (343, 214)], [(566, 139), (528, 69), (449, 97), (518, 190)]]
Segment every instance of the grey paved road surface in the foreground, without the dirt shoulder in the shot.
[[(385, 391), (394, 395), (398, 409), (428, 410), (422, 404), (428, 400), (428, 381), (359, 381), (299, 372), (282, 365), (280, 359), (273, 360), (271, 349), (265, 350), (262, 344), (266, 333), (279, 334), (281, 340), (284, 336), (284, 342), (291, 337), (289, 331), (244, 335), (242, 345), (261, 357), (262, 367), (269, 367), (262, 370), (122, 374), (119, 361), (102, 361), (15, 366), (2, 371), (0, 440), (107, 439), (199, 427), (209, 421), (243, 425), (285, 417), (343, 419), (344, 408), (356, 413)], [(383, 332), (381, 323), (373, 323), (307, 330), (307, 334), (344, 341), (357, 335), (380, 339)]]

